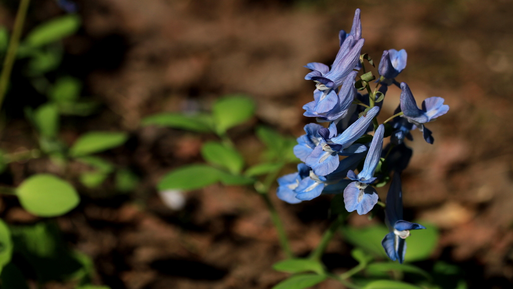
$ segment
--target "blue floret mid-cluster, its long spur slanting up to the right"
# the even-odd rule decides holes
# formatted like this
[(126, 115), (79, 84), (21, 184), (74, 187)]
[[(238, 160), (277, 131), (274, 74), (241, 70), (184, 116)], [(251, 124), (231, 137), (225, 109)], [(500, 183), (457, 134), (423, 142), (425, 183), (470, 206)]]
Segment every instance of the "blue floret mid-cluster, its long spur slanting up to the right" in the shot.
[(349, 125), (347, 130), (340, 135), (337, 135), (335, 125), (330, 125), (329, 130), (326, 128), (320, 129), (319, 135), (322, 137), (322, 141), (306, 158), (306, 165), (312, 168), (314, 174), (325, 176), (337, 169), (339, 154), (344, 155), (365, 151), (364, 145), (353, 145), (353, 142), (366, 132), (379, 110), (377, 106), (372, 107), (365, 116), (360, 117), (353, 124)]

